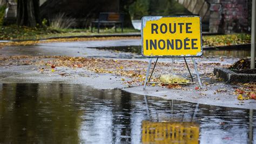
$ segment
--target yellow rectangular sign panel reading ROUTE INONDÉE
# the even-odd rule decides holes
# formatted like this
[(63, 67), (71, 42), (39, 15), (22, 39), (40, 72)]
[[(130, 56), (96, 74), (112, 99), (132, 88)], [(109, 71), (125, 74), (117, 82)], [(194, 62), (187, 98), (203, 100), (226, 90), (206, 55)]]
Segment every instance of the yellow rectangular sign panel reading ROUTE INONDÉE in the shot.
[(203, 55), (199, 16), (142, 18), (142, 55), (196, 57)]

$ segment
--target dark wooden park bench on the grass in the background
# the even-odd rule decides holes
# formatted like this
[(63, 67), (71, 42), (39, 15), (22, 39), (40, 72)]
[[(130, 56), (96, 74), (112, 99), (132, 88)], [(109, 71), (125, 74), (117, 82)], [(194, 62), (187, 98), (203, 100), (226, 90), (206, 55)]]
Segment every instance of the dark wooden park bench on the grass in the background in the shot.
[(124, 13), (114, 13), (114, 12), (102, 12), (99, 13), (98, 20), (91, 22), (91, 32), (93, 26), (97, 25), (98, 33), (99, 33), (99, 26), (100, 24), (112, 24), (114, 25), (114, 31), (117, 32), (117, 24), (119, 24), (122, 28), (124, 26)]

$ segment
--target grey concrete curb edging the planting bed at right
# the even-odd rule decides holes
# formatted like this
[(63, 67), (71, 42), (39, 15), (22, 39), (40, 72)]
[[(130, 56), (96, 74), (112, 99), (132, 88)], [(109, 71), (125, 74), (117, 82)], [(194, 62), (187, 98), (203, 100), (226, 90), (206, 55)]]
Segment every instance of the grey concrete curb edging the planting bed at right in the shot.
[(256, 74), (238, 74), (226, 68), (214, 68), (213, 73), (228, 83), (256, 82)]

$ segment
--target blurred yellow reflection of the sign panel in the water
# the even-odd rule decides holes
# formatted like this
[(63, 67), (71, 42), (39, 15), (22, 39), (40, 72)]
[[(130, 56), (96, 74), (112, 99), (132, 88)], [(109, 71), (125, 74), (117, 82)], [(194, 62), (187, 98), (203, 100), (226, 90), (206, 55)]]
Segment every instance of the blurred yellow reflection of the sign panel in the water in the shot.
[(198, 143), (199, 125), (193, 122), (142, 122), (142, 143)]

